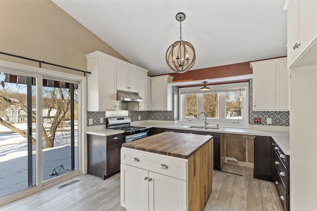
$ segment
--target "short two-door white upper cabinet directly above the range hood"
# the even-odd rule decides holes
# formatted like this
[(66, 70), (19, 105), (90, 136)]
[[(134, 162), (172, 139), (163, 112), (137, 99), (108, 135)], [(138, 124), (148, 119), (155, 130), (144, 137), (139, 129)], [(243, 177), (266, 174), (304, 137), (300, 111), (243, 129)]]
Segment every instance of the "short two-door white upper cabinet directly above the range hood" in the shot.
[(117, 64), (117, 90), (139, 92), (139, 70)]

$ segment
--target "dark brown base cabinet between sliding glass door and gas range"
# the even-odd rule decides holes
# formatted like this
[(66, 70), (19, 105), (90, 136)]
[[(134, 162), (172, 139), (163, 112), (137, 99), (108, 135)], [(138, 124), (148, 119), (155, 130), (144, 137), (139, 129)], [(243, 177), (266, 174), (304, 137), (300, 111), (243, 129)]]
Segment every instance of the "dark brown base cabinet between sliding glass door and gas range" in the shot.
[(88, 173), (101, 179), (120, 171), (120, 149), (124, 135), (87, 134)]

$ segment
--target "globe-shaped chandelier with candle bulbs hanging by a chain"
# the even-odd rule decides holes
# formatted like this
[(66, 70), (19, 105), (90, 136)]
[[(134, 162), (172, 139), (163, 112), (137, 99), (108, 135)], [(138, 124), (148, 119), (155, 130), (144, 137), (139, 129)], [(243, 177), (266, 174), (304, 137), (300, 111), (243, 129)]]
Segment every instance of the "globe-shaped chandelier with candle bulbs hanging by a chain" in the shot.
[(168, 47), (165, 54), (166, 63), (169, 68), (179, 73), (188, 71), (193, 67), (196, 61), (194, 46), (182, 39), (182, 21), (185, 20), (185, 17), (183, 12), (178, 12), (176, 14), (176, 20), (180, 22), (180, 38), (179, 41), (176, 41)]

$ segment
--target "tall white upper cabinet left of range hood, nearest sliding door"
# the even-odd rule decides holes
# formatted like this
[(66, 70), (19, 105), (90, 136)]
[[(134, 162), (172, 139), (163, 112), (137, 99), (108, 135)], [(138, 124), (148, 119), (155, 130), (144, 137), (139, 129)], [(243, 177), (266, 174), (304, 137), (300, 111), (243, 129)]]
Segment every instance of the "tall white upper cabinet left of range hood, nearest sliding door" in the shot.
[(86, 55), (87, 110), (116, 110), (116, 63), (105, 58), (104, 53)]

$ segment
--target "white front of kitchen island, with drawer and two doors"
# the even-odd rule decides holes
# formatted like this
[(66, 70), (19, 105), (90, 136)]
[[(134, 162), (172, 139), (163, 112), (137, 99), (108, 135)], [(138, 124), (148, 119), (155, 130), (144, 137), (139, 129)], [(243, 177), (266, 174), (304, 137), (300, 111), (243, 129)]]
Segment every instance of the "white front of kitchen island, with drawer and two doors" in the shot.
[[(121, 150), (121, 155), (121, 205), (123, 207), (131, 211), (187, 210), (186, 180), (184, 180), (187, 161), (185, 159), (177, 160), (124, 148)], [(158, 169), (153, 169), (153, 165)], [(163, 174), (156, 173), (160, 170), (160, 165), (166, 165), (170, 169), (175, 168), (172, 170), (182, 176), (174, 178), (169, 175), (169, 171)]]

